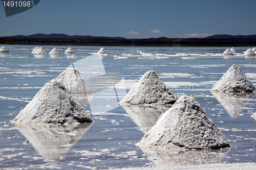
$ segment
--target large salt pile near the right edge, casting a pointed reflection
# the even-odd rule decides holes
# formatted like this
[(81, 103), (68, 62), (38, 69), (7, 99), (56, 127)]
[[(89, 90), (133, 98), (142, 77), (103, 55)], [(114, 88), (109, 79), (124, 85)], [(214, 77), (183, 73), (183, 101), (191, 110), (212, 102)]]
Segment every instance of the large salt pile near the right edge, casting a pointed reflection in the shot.
[(233, 64), (221, 79), (212, 87), (211, 91), (217, 92), (252, 92), (255, 87), (245, 76), (241, 68)]

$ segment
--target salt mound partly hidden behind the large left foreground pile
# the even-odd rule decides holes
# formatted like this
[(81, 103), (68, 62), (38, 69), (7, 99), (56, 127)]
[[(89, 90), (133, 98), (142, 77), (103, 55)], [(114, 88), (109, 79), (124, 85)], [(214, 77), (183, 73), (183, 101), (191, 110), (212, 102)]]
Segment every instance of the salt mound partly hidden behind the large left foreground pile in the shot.
[(71, 94), (95, 94), (91, 84), (82, 77), (76, 68), (63, 71), (56, 80), (63, 84)]

